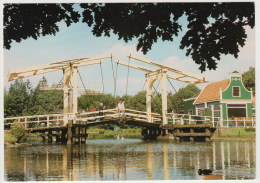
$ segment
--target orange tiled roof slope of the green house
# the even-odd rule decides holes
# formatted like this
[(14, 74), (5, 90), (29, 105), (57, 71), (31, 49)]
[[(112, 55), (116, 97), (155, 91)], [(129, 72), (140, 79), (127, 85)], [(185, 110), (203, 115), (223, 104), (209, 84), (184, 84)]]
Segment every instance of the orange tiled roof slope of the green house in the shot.
[(229, 79), (226, 79), (223, 81), (208, 84), (204, 88), (204, 90), (202, 90), (202, 92), (199, 94), (198, 98), (195, 100), (194, 103), (198, 104), (206, 101), (219, 100), (220, 88), (222, 89), (222, 91), (225, 90), (229, 85), (229, 81)]

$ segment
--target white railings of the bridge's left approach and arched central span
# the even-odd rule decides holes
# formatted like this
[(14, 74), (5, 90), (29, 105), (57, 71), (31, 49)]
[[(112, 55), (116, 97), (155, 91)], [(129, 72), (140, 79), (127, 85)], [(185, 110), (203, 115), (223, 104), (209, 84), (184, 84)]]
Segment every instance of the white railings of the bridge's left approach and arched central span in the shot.
[[(20, 116), (13, 118), (5, 118), (5, 126), (10, 126), (13, 122), (18, 121), (25, 125), (31, 131), (48, 131), (61, 130), (67, 127), (64, 123), (65, 118), (72, 119), (72, 114), (47, 114), (34, 116)], [(159, 114), (152, 113), (151, 122), (148, 122), (146, 112), (126, 109), (125, 113), (120, 117), (116, 113), (116, 109), (103, 110), (102, 112), (85, 112), (78, 113), (73, 118), (74, 126), (95, 126), (105, 123), (126, 123), (136, 126), (159, 127), (161, 117)]]

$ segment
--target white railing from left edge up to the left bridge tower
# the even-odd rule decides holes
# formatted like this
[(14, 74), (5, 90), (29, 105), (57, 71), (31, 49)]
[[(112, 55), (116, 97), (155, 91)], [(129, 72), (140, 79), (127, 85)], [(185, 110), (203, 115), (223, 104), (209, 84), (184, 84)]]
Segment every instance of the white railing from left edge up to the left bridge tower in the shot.
[(21, 122), (25, 128), (41, 128), (63, 126), (63, 117), (67, 114), (45, 114), (34, 116), (20, 116), (4, 118), (4, 125), (10, 126), (14, 122)]

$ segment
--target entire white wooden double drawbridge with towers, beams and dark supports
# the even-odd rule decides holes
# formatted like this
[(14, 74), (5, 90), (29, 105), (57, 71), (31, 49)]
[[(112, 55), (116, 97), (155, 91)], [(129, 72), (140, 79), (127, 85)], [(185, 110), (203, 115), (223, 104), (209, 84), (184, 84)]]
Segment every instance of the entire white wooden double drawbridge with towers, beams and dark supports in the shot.
[[(206, 83), (208, 82), (207, 79), (202, 76), (163, 65), (159, 62), (133, 55), (128, 55), (128, 63), (123, 61), (116, 61), (115, 63), (146, 72), (146, 112), (127, 109), (123, 119), (117, 117), (115, 109), (104, 110), (102, 111), (104, 115), (99, 116), (95, 116), (98, 112), (78, 113), (78, 67), (93, 64), (100, 64), (101, 66), (101, 63), (105, 62), (103, 59), (110, 58), (113, 68), (112, 57), (113, 55), (109, 54), (11, 69), (8, 81), (62, 70), (64, 83), (63, 114), (5, 118), (5, 126), (10, 126), (11, 123), (18, 120), (25, 125), (29, 132), (42, 132), (43, 138), (46, 136), (50, 142), (52, 141), (52, 137), (55, 136), (57, 142), (67, 141), (68, 144), (76, 141), (78, 143), (86, 141), (87, 128), (89, 126), (121, 122), (143, 127), (142, 135), (144, 139), (156, 139), (158, 136), (166, 135), (173, 135), (177, 140), (190, 139), (191, 141), (194, 141), (194, 139), (198, 137), (202, 137), (206, 140), (210, 139), (216, 129), (214, 127), (214, 118), (211, 122), (204, 119), (202, 120), (202, 123), (204, 124), (196, 124), (196, 122), (191, 119), (191, 116), (189, 116), (188, 123), (186, 124), (184, 123), (184, 119), (180, 119), (180, 121), (176, 121), (176, 124), (173, 123), (169, 125), (169, 116), (174, 117), (174, 115), (167, 113), (167, 80), (169, 81), (169, 79), (174, 79), (194, 85)], [(159, 67), (159, 69), (156, 70), (132, 64), (130, 63), (130, 59)], [(114, 75), (113, 70), (113, 76)], [(114, 80), (116, 86), (116, 79), (114, 78)], [(161, 88), (161, 115), (152, 113), (152, 89), (154, 88), (153, 84), (156, 81), (158, 81)]]

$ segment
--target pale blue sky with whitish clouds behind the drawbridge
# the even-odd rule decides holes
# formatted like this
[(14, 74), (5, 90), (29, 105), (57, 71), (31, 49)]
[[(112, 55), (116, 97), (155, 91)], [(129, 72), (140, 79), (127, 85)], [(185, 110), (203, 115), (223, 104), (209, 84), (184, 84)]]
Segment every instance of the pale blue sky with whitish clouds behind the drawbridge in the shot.
[[(118, 40), (116, 35), (111, 37), (95, 37), (91, 33), (91, 29), (83, 23), (76, 23), (70, 27), (66, 27), (64, 23), (60, 23), (60, 31), (56, 36), (41, 36), (37, 40), (32, 38), (21, 41), (20, 43), (13, 42), (10, 50), (4, 49), (4, 87), (9, 88), (11, 82), (7, 81), (8, 72), (11, 68), (28, 67), (33, 65), (57, 62), (68, 59), (76, 59), (82, 57), (113, 54), (115, 57), (112, 61), (122, 60), (128, 62), (128, 54), (138, 55), (147, 59), (151, 59), (182, 71), (191, 72), (194, 74), (206, 77), (210, 82), (221, 81), (229, 78), (229, 73), (234, 70), (242, 72), (248, 71), (249, 67), (255, 67), (255, 29), (246, 28), (248, 35), (246, 44), (240, 48), (238, 58), (231, 55), (223, 55), (218, 62), (216, 70), (207, 70), (201, 73), (199, 65), (195, 64), (190, 57), (186, 57), (185, 50), (179, 49), (179, 43), (182, 35), (186, 32), (185, 17), (180, 22), (184, 25), (183, 32), (178, 37), (174, 37), (173, 42), (158, 40), (152, 46), (152, 49), (143, 55), (136, 51), (137, 39), (133, 39), (128, 43)], [(130, 59), (131, 63), (138, 64), (152, 69), (159, 69), (142, 62)], [(141, 91), (145, 83), (145, 72), (128, 68), (125, 66), (114, 64), (114, 74), (116, 75), (116, 94), (134, 95)], [(102, 85), (101, 69), (103, 73), (104, 86)], [(86, 87), (104, 89), (105, 93), (114, 94), (113, 69), (111, 59), (106, 59), (105, 63), (100, 65), (84, 66), (79, 68), (80, 75), (83, 78)], [(42, 77), (46, 77), (49, 84), (59, 83), (62, 79), (62, 72), (57, 71), (44, 75), (36, 75), (28, 79), (35, 87)], [(129, 76), (129, 77), (127, 77)], [(126, 87), (128, 78), (128, 87)], [(26, 78), (27, 79), (27, 78)], [(26, 80), (24, 79), (24, 80)], [(171, 80), (175, 89), (185, 87), (187, 84), (179, 81)], [(83, 88), (83, 84), (78, 77), (78, 85)], [(154, 84), (155, 86), (157, 83)], [(200, 89), (205, 87), (205, 84), (197, 85)], [(174, 89), (168, 83), (167, 90), (174, 93)]]

